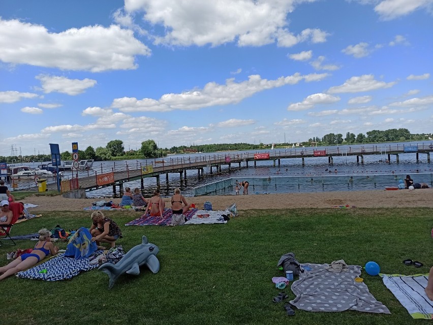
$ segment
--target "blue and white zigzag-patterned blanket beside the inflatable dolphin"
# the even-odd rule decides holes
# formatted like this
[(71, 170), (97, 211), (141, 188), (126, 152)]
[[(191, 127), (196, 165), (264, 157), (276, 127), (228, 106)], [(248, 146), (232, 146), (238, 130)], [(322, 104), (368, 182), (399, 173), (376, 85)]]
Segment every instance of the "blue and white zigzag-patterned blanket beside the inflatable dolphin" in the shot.
[[(102, 252), (102, 250), (100, 251)], [(39, 279), (44, 281), (58, 281), (71, 279), (80, 272), (97, 268), (98, 265), (90, 265), (89, 258), (71, 258), (65, 254), (57, 254), (47, 262), (39, 264), (26, 271), (17, 273), (17, 277), (22, 279)], [(47, 273), (39, 273), (47, 270)]]

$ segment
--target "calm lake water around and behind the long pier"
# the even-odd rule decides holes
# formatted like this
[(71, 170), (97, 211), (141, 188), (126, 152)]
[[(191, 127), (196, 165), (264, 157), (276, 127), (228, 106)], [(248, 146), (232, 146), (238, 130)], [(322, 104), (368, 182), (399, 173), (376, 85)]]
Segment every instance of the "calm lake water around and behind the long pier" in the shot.
[[(430, 142), (405, 142), (398, 143), (399, 146), (403, 145), (419, 145), (424, 144), (425, 146), (430, 145)], [(289, 158), (281, 159), (281, 165), (273, 166), (273, 161), (257, 161), (257, 166), (254, 167), (254, 163), (250, 162), (249, 167), (246, 168), (246, 164), (241, 163), (241, 168), (238, 168), (238, 164), (232, 164), (231, 171), (228, 171), (227, 166), (222, 166), (222, 172), (217, 175), (215, 168), (213, 174), (210, 171), (204, 169), (204, 177), (198, 177), (197, 170), (187, 171), (187, 177), (182, 183), (178, 173), (169, 174), (169, 182), (166, 182), (164, 175), (161, 176), (161, 196), (169, 197), (173, 194), (175, 187), (179, 187), (182, 194), (185, 196), (194, 196), (194, 193), (199, 193), (196, 187), (200, 187), (206, 184), (224, 183), (221, 182), (226, 179), (231, 179), (230, 183), (234, 185), (236, 179), (246, 179), (250, 181), (249, 193), (286, 193), (286, 192), (311, 192), (311, 191), (332, 191), (332, 190), (365, 190), (365, 189), (384, 189), (385, 186), (396, 186), (399, 178), (405, 178), (406, 174), (410, 174), (414, 179), (415, 183), (427, 183), (429, 186), (433, 185), (432, 179), (432, 165), (427, 163), (427, 155), (419, 154), (419, 160), (416, 160), (416, 153), (404, 153), (399, 154), (399, 163), (395, 161), (395, 155), (391, 155), (390, 163), (386, 163), (387, 160), (387, 148), (389, 146), (396, 147), (397, 143), (374, 145), (377, 146), (377, 150), (383, 148), (383, 154), (381, 155), (364, 155), (364, 164), (358, 164), (356, 156), (346, 156), (345, 152), (361, 148), (361, 145), (339, 145), (339, 146), (327, 146), (318, 147), (318, 150), (336, 150), (338, 147), (339, 152), (343, 154), (341, 156), (333, 157), (333, 165), (328, 164), (328, 157), (311, 157), (304, 158), (305, 164), (302, 165), (301, 158)], [(350, 147), (350, 148), (349, 148)], [(364, 145), (365, 148), (372, 148), (373, 145)], [(306, 148), (311, 151), (312, 147)], [(197, 156), (209, 155), (213, 158), (214, 155), (226, 154), (241, 154), (241, 153), (264, 153), (273, 152), (278, 153), (284, 150), (294, 150), (292, 148), (287, 149), (276, 149), (276, 150), (249, 150), (249, 151), (227, 151), (227, 152), (212, 152), (212, 153), (194, 153), (194, 154), (179, 154), (169, 155), (164, 157), (166, 162), (170, 159), (177, 159), (180, 157), (191, 157), (194, 160)], [(300, 151), (300, 148), (296, 148)], [(433, 159), (433, 156), (430, 157)], [(103, 165), (104, 169), (108, 166), (126, 165), (128, 164), (131, 168), (136, 167), (138, 163), (150, 164), (155, 159), (139, 159), (139, 160), (117, 160), (117, 161), (95, 161), (93, 169), (98, 171)], [(158, 158), (157, 160), (162, 160)], [(37, 167), (38, 163), (27, 164), (29, 167)], [(337, 171), (335, 173), (335, 170)], [(87, 176), (86, 171), (80, 171), (80, 175)], [(69, 172), (70, 174), (70, 172)], [(68, 175), (68, 172), (65, 173)], [(349, 183), (350, 176), (353, 176), (354, 182)], [(369, 176), (369, 179), (366, 178)], [(269, 180), (270, 178), (270, 180)], [(313, 181), (311, 180), (313, 178)], [(225, 183), (227, 184), (228, 181)], [(132, 189), (135, 187), (140, 188), (140, 180), (131, 181), (124, 183), (124, 186), (129, 186)], [(213, 186), (213, 185), (212, 185)], [(221, 185), (218, 185), (221, 186)], [(144, 179), (143, 194), (145, 197), (152, 196), (154, 189), (157, 188), (156, 178), (149, 177)], [(231, 185), (224, 186), (224, 189), (215, 190), (212, 194), (234, 194), (234, 187)], [(88, 198), (99, 198), (99, 197), (113, 197), (113, 189), (111, 186), (101, 188), (98, 190), (89, 191), (86, 193)], [(118, 193), (117, 193), (118, 195)]]

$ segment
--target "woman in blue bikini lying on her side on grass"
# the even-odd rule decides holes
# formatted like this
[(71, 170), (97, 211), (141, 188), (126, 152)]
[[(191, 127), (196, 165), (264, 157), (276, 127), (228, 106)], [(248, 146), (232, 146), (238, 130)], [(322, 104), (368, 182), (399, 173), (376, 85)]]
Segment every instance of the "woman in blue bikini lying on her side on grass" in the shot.
[(38, 233), (39, 242), (36, 243), (31, 253), (22, 254), (15, 261), (0, 268), (0, 274), (2, 274), (0, 275), (0, 280), (36, 265), (50, 253), (51, 255), (57, 254), (58, 247), (51, 243), (51, 233), (45, 228), (41, 229)]

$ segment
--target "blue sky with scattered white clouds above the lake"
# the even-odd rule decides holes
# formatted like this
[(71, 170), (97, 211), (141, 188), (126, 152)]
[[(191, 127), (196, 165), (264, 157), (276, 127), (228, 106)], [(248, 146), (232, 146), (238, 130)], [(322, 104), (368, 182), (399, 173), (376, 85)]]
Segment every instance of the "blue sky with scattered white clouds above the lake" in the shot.
[(433, 124), (433, 0), (8, 1), (0, 155)]

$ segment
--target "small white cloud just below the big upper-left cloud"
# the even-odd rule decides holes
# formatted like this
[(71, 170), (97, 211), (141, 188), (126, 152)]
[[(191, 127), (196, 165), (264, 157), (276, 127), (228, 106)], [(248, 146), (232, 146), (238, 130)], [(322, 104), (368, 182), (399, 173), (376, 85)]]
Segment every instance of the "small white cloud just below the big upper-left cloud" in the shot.
[(41, 81), (42, 90), (45, 93), (60, 92), (71, 96), (83, 93), (87, 88), (91, 88), (97, 83), (93, 79), (68, 79), (50, 75), (38, 75), (35, 78)]

